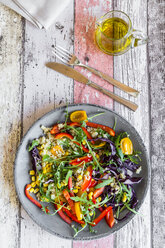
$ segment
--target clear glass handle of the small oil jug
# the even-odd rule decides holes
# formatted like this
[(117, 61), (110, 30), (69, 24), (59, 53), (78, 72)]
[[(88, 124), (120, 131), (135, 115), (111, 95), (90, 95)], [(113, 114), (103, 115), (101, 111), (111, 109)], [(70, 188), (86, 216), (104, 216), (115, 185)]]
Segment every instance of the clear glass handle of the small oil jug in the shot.
[(134, 29), (132, 32), (132, 36), (133, 36), (132, 44), (131, 44), (132, 48), (147, 43), (147, 40), (148, 40), (147, 35), (143, 34), (143, 32), (141, 32), (140, 30)]

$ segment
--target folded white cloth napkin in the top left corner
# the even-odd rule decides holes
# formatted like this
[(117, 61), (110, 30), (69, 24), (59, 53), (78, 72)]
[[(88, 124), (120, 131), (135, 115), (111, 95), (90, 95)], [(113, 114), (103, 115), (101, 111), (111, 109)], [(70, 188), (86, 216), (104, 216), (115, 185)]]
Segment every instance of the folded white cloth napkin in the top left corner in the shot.
[(70, 0), (0, 0), (39, 28), (48, 28)]

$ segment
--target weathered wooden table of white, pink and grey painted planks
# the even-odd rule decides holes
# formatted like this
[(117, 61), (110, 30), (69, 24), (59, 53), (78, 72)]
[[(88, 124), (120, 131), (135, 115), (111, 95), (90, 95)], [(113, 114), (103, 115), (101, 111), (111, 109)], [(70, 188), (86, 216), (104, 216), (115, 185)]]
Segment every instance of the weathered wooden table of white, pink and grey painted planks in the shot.
[[(95, 19), (108, 10), (126, 12), (135, 28), (148, 33), (148, 45), (119, 57), (101, 53), (93, 41)], [(163, 248), (164, 239), (164, 120), (163, 1), (75, 0), (47, 31), (39, 30), (9, 8), (0, 5), (0, 247), (1, 248)], [(55, 61), (55, 44), (74, 51), (85, 63), (140, 91), (133, 113), (89, 87), (45, 67)], [(89, 73), (80, 69), (83, 73)], [(109, 90), (113, 87), (91, 78)], [(128, 96), (120, 90), (114, 91)], [(13, 162), (21, 138), (33, 122), (66, 103), (97, 103), (115, 110), (140, 133), (149, 153), (152, 184), (140, 209), (128, 225), (97, 241), (72, 242), (37, 226), (21, 207), (13, 183)]]

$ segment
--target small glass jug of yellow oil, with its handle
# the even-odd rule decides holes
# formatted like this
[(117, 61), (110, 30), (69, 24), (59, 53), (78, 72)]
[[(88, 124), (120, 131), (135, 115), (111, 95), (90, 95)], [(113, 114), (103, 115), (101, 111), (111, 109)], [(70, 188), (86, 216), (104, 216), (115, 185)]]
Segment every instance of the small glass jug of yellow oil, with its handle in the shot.
[(95, 39), (98, 47), (110, 55), (120, 55), (131, 47), (146, 43), (147, 37), (135, 31), (128, 15), (110, 11), (96, 22)]

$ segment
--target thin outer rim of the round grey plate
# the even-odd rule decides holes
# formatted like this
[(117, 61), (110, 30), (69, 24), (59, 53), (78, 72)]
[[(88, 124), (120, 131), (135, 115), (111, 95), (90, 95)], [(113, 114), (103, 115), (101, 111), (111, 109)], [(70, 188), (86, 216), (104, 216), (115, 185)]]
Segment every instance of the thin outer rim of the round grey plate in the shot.
[(26, 209), (26, 206), (24, 204), (24, 201), (22, 201), (21, 197), (20, 197), (20, 191), (19, 191), (19, 187), (18, 187), (18, 184), (16, 182), (16, 162), (17, 162), (17, 159), (18, 159), (18, 154), (19, 154), (19, 150), (21, 148), (21, 145), (22, 143), (24, 142), (24, 139), (26, 138), (27, 134), (29, 133), (29, 131), (33, 128), (33, 126), (39, 122), (42, 118), (46, 118), (46, 116), (49, 116), (51, 113), (55, 113), (59, 110), (62, 110), (62, 109), (65, 109), (65, 108), (68, 108), (69, 107), (81, 107), (81, 106), (93, 106), (93, 107), (98, 107), (98, 108), (101, 108), (101, 109), (105, 109), (106, 111), (109, 111), (111, 112), (112, 114), (118, 116), (120, 119), (123, 119), (126, 123), (128, 123), (131, 128), (135, 131), (136, 135), (138, 136), (138, 138), (140, 139), (141, 141), (141, 144), (142, 146), (144, 147), (144, 152), (145, 152), (145, 156), (146, 156), (146, 161), (147, 161), (147, 165), (146, 165), (146, 168), (147, 168), (147, 175), (148, 175), (148, 178), (147, 178), (147, 183), (146, 183), (146, 188), (145, 188), (145, 191), (144, 191), (144, 197), (143, 199), (141, 200), (140, 202), (140, 205), (138, 204), (137, 207), (136, 207), (136, 211), (139, 211), (139, 209), (141, 208), (141, 206), (143, 205), (144, 203), (144, 200), (146, 198), (146, 195), (147, 195), (147, 192), (148, 192), (148, 189), (149, 189), (149, 185), (150, 185), (150, 182), (151, 182), (151, 167), (150, 167), (150, 159), (149, 159), (149, 156), (148, 156), (148, 152), (147, 152), (147, 149), (146, 149), (146, 146), (140, 136), (140, 134), (138, 133), (138, 131), (136, 130), (136, 128), (131, 124), (129, 123), (128, 120), (126, 120), (123, 116), (121, 116), (120, 114), (118, 114), (116, 111), (114, 110), (111, 110), (107, 107), (104, 107), (104, 106), (100, 106), (100, 105), (97, 105), (97, 104), (88, 104), (88, 103), (73, 103), (73, 104), (68, 104), (68, 105), (64, 105), (64, 106), (61, 106), (61, 107), (58, 107), (58, 108), (55, 108), (55, 109), (52, 109), (51, 111), (48, 111), (46, 112), (45, 114), (43, 114), (41, 117), (39, 117), (37, 120), (35, 120), (33, 122), (33, 124), (28, 128), (28, 130), (26, 131), (26, 133), (23, 135), (23, 137), (21, 138), (20, 140), (20, 143), (19, 143), (19, 146), (17, 148), (17, 151), (16, 151), (16, 155), (15, 155), (15, 160), (14, 160), (14, 167), (13, 167), (13, 174), (14, 174), (14, 185), (15, 185), (15, 190), (16, 190), (16, 193), (17, 193), (17, 197), (18, 197), (18, 200), (19, 202), (21, 203), (21, 205), (23, 206), (23, 209), (25, 210), (25, 212), (30, 216), (30, 218), (40, 227), (42, 228), (43, 230), (47, 231), (48, 233), (51, 233), (53, 235), (56, 235), (60, 238), (63, 238), (63, 239), (67, 239), (67, 240), (74, 240), (74, 241), (85, 241), (85, 240), (97, 240), (97, 239), (100, 239), (100, 238), (104, 238), (104, 237), (107, 237), (111, 234), (114, 234), (116, 233), (118, 230), (122, 229), (124, 226), (126, 226), (135, 216), (136, 214), (133, 214), (131, 213), (131, 215), (129, 216), (129, 218), (125, 221), (125, 223), (120, 227), (116, 227), (114, 230), (113, 229), (110, 229), (110, 230), (113, 230), (112, 232), (107, 232), (107, 233), (104, 233), (104, 234), (96, 234), (96, 236), (90, 236), (90, 237), (79, 237), (79, 236), (76, 236), (76, 237), (66, 237), (64, 235), (61, 235), (59, 233), (56, 233), (54, 231), (52, 231), (51, 229), (49, 229), (48, 227), (46, 226), (43, 226), (43, 224), (38, 221), (37, 219), (34, 219), (34, 216), (31, 214), (30, 211), (28, 211), (28, 209)]

